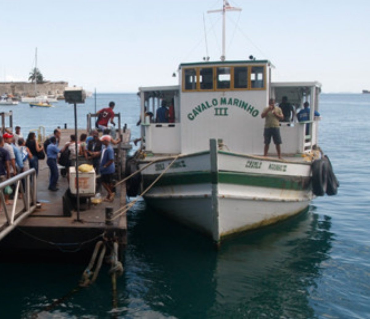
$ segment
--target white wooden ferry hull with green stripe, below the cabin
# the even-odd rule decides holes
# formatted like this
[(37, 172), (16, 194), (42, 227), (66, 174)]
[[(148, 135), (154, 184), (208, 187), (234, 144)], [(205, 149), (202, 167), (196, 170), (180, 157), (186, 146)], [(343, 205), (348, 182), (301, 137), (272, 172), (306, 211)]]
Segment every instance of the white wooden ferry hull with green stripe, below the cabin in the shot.
[(212, 147), (179, 157), (165, 172), (172, 161), (163, 159), (142, 171), (144, 189), (159, 177), (144, 199), (215, 242), (296, 215), (313, 197), (310, 165), (302, 161), (282, 162)]

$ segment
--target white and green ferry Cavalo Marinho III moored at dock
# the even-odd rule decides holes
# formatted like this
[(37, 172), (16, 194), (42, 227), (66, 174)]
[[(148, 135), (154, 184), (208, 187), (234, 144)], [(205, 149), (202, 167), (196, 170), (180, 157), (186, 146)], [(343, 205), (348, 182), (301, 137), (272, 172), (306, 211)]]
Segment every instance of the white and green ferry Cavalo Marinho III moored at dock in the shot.
[[(229, 9), (224, 1), (219, 11), (225, 17)], [(127, 172), (140, 171), (141, 179), (128, 180), (128, 194), (216, 244), (294, 216), (315, 196), (335, 195), (339, 183), (317, 144), (321, 84), (273, 82), (272, 69), (253, 57), (228, 61), (223, 45), (221, 61), (181, 63), (178, 85), (139, 87), (141, 147)], [(283, 96), (297, 108), (309, 102), (312, 120), (281, 122), (282, 159), (273, 145), (263, 156), (261, 113), (270, 97)], [(173, 107), (173, 121), (145, 117), (162, 104)], [(131, 191), (135, 184), (140, 189)]]

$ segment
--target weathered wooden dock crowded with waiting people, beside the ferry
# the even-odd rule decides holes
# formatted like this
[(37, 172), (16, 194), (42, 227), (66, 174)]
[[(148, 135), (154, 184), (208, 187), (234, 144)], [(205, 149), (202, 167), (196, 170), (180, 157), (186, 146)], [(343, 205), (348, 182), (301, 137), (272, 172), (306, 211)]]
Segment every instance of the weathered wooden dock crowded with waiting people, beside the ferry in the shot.
[[(86, 132), (79, 130), (78, 135)], [(74, 130), (62, 130), (61, 143), (63, 146), (69, 140)], [(121, 162), (116, 165), (125, 167), (125, 160), (129, 145), (130, 132), (121, 133), (122, 142), (116, 147), (121, 150)], [(124, 172), (124, 170), (123, 170)], [(122, 176), (123, 177), (123, 176)], [(48, 190), (49, 168), (45, 160), (39, 160), (39, 174), (37, 178), (37, 201), (41, 207), (35, 209), (25, 218), (18, 227), (0, 242), (0, 250), (21, 249), (49, 250), (62, 252), (77, 252), (88, 250), (91, 252), (98, 240), (114, 239), (120, 245), (127, 243), (127, 220), (126, 214), (112, 220), (112, 225), (107, 225), (105, 210), (111, 207), (117, 212), (126, 204), (126, 187), (122, 183), (116, 188), (113, 202), (104, 202), (94, 205), (88, 198), (80, 197), (80, 216), (78, 218), (75, 205), (77, 200), (72, 197), (71, 207), (66, 213), (66, 205), (63, 205), (63, 196), (68, 190), (67, 177), (59, 177), (58, 191)], [(105, 197), (105, 190), (101, 189), (101, 198)], [(71, 198), (71, 197), (68, 197)], [(18, 199), (20, 201), (20, 199)], [(22, 205), (20, 204), (20, 207)], [(20, 208), (21, 209), (21, 208)], [(6, 225), (4, 214), (0, 214), (0, 225)]]

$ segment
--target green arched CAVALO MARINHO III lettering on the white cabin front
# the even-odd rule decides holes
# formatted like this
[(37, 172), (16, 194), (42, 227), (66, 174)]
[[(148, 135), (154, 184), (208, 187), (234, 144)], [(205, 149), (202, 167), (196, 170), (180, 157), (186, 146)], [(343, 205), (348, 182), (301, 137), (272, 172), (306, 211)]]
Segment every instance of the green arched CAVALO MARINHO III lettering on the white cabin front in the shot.
[[(216, 107), (217, 106), (217, 107)], [(232, 97), (221, 97), (219, 100), (218, 99), (212, 99), (211, 102), (205, 101), (198, 106), (194, 107), (190, 113), (188, 113), (188, 119), (189, 120), (194, 120), (200, 113), (203, 111), (206, 111), (210, 109), (211, 107), (214, 108), (215, 110), (215, 116), (229, 116), (228, 113), (228, 107), (220, 107), (220, 106), (236, 106), (239, 107), (240, 109), (245, 110), (247, 113), (252, 115), (253, 117), (258, 116), (259, 110), (257, 110), (254, 106), (248, 104), (247, 102), (232, 98)]]

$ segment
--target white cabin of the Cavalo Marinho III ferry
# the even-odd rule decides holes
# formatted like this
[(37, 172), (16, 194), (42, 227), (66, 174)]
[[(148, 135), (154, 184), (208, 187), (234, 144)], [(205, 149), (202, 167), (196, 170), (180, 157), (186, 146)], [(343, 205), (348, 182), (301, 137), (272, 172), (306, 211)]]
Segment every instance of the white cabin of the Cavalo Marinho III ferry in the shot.
[[(261, 155), (265, 125), (261, 113), (270, 97), (279, 104), (286, 96), (296, 110), (309, 102), (310, 120), (281, 122), (282, 153), (311, 150), (317, 143), (313, 115), (320, 84), (275, 83), (272, 68), (268, 60), (183, 63), (179, 85), (139, 88), (142, 148), (154, 154), (187, 154), (208, 150), (209, 139), (218, 139), (224, 150)], [(159, 121), (162, 103), (166, 107), (162, 114), (169, 113), (169, 119)]]

